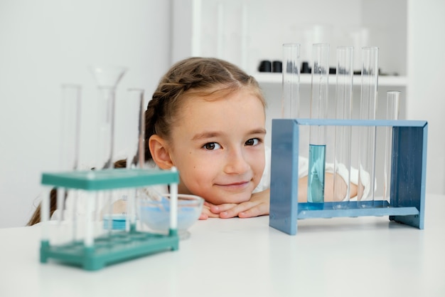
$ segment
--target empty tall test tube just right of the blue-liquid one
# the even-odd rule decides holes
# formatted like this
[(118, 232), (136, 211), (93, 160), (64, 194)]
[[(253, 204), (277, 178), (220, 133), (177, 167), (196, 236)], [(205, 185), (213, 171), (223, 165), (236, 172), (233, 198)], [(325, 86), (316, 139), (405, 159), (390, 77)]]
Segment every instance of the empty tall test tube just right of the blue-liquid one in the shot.
[[(337, 48), (336, 118), (338, 120), (350, 120), (352, 116), (353, 50), (352, 46)], [(351, 127), (336, 126), (334, 150), (333, 200), (348, 202), (350, 198)], [(336, 208), (341, 208), (342, 205), (336, 204)]]

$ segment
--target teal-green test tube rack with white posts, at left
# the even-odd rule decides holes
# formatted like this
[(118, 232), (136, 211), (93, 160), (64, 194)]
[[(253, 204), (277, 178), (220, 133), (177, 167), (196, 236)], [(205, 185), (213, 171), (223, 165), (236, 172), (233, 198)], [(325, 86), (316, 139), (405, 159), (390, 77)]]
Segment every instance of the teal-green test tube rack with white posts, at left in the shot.
[[(64, 187), (87, 192), (89, 201), (95, 199), (95, 193), (104, 190), (140, 188), (154, 184), (178, 184), (178, 172), (173, 170), (111, 169), (73, 172), (43, 173), (41, 184), (48, 187)], [(173, 187), (171, 187), (173, 188)], [(177, 189), (177, 187), (175, 187)], [(177, 193), (176, 193), (177, 194)], [(173, 205), (170, 209), (173, 212)], [(159, 251), (178, 249), (179, 237), (176, 228), (168, 234), (154, 234), (138, 231), (130, 226), (129, 231), (112, 231), (94, 237), (91, 231), (85, 231), (82, 240), (68, 241), (64, 244), (52, 244), (49, 240), (50, 226), (48, 212), (49, 191), (41, 204), (42, 238), (40, 261), (46, 263), (53, 259), (62, 264), (80, 266), (85, 270), (95, 271), (108, 264), (114, 264)], [(88, 217), (88, 216), (85, 216)], [(87, 219), (88, 220), (88, 219)], [(88, 224), (89, 222), (85, 222)], [(88, 227), (87, 227), (88, 228)]]

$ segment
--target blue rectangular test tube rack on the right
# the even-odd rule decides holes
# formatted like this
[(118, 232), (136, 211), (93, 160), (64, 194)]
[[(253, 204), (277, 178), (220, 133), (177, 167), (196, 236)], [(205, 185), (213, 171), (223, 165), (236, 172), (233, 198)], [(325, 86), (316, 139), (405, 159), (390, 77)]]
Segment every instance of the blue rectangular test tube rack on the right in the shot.
[[(317, 209), (299, 203), (301, 125), (392, 127), (390, 202), (324, 202)], [(298, 219), (389, 216), (390, 221), (424, 229), (427, 132), (428, 124), (421, 120), (272, 120), (269, 226), (295, 235)]]

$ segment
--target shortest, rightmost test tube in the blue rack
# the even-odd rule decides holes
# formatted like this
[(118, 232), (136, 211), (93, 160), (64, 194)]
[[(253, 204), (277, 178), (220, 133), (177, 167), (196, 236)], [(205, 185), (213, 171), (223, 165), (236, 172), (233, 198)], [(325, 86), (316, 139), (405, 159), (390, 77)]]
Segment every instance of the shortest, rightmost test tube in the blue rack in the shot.
[[(399, 106), (400, 106), (400, 91), (389, 90), (387, 91), (387, 120), (399, 119)], [(385, 139), (385, 172), (383, 173), (383, 200), (390, 203), (390, 184), (391, 184), (391, 157), (392, 157), (392, 127), (386, 128)]]

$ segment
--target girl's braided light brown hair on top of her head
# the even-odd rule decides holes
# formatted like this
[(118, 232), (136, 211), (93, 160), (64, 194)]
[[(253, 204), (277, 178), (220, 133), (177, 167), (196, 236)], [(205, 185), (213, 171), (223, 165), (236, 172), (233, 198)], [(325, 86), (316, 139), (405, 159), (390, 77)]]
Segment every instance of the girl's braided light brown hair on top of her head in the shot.
[(190, 95), (220, 98), (240, 88), (250, 88), (266, 106), (257, 80), (232, 63), (218, 58), (194, 57), (173, 65), (159, 81), (145, 111), (145, 159), (152, 159), (151, 135), (170, 139), (183, 98)]

